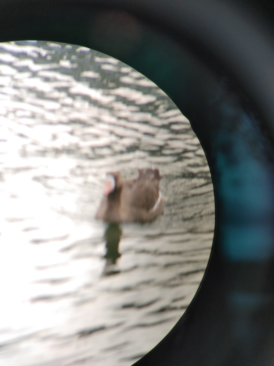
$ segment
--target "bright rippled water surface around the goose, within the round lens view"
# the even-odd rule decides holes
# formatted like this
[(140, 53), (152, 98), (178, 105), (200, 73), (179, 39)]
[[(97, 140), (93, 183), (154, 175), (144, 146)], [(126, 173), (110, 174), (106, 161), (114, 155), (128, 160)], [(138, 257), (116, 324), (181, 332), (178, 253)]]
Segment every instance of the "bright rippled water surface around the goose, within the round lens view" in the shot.
[[(148, 167), (164, 215), (96, 221), (105, 173)], [(178, 321), (208, 262), (213, 187), (189, 122), (151, 81), (84, 47), (0, 44), (0, 200), (0, 365), (131, 365)]]

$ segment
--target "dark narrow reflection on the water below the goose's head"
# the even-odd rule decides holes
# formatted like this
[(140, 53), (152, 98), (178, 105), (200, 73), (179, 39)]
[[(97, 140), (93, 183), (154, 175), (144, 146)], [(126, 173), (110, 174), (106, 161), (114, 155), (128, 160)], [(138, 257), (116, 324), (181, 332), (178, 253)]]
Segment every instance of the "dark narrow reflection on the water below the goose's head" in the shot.
[[(119, 242), (122, 236), (122, 230), (119, 227), (119, 224), (109, 224), (104, 233), (104, 238), (106, 240), (106, 254), (104, 258), (106, 258), (106, 268), (105, 272), (110, 274), (110, 266), (116, 264), (116, 261), (121, 254), (119, 253)], [(114, 270), (114, 268), (112, 268)], [(117, 270), (114, 271), (117, 273)]]

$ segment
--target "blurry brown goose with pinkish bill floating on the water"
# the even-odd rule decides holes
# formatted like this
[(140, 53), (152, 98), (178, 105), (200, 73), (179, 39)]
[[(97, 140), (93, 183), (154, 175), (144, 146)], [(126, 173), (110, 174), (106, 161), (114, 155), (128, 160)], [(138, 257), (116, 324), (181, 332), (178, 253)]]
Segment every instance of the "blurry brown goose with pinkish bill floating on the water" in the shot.
[(137, 179), (123, 181), (119, 172), (109, 173), (96, 219), (110, 223), (152, 221), (164, 212), (158, 169), (139, 169)]

